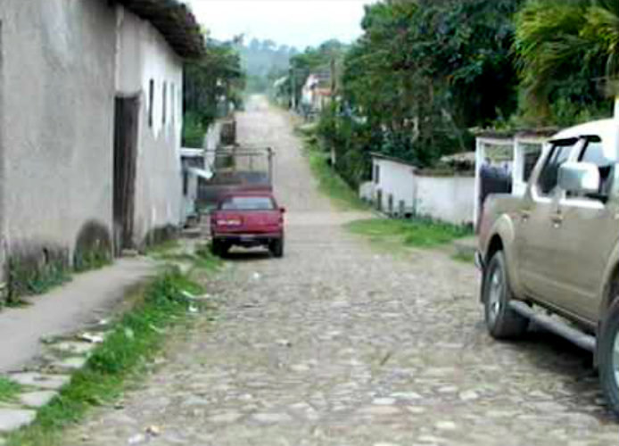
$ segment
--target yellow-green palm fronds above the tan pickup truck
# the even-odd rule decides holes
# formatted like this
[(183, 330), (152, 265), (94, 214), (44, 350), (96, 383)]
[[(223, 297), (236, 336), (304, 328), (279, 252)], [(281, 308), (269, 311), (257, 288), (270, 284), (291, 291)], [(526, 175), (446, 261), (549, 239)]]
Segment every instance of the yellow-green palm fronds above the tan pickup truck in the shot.
[(582, 120), (605, 113), (599, 83), (619, 75), (619, 3), (528, 0), (516, 15), (515, 51), (531, 120), (561, 121), (572, 109)]

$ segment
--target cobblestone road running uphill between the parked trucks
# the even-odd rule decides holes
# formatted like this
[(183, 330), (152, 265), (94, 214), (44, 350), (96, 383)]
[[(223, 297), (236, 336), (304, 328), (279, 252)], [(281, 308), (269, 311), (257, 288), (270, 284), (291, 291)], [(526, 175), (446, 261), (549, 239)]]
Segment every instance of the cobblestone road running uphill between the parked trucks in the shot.
[[(219, 318), (64, 444), (378, 446), (619, 444), (590, 356), (535, 333), (486, 335), (474, 268), (376, 252), (316, 191), (283, 113), (260, 99), (243, 141), (276, 148), (283, 260), (233, 254)], [(148, 437), (144, 429), (161, 426)], [(83, 439), (86, 439), (83, 441)]]

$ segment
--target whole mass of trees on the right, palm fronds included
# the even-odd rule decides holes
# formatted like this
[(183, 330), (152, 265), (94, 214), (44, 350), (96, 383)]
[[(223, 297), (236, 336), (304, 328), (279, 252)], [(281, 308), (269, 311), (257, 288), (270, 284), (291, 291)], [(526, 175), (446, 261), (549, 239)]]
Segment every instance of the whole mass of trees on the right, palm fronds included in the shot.
[[(569, 126), (609, 116), (617, 94), (616, 0), (383, 0), (362, 28), (318, 123), (353, 186), (371, 152), (433, 166), (475, 150), (471, 128)], [(324, 53), (293, 58), (296, 95)]]

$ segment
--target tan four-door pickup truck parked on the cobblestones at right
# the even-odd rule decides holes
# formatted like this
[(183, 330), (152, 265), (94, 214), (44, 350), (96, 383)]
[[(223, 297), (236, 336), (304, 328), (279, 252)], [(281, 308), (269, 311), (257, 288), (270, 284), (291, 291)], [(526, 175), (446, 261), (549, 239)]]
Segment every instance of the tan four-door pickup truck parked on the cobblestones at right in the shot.
[(497, 339), (535, 323), (594, 353), (619, 414), (619, 126), (554, 136), (524, 196), (491, 195), (479, 225), (486, 326)]

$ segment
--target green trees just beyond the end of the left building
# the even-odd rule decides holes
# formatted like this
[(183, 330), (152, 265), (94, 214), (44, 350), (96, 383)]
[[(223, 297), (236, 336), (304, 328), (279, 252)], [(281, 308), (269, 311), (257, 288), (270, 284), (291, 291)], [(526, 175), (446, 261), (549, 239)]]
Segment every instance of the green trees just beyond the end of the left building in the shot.
[(245, 75), (235, 44), (208, 39), (206, 55), (186, 62), (184, 84), (183, 144), (201, 147), (210, 124), (243, 102)]

